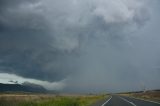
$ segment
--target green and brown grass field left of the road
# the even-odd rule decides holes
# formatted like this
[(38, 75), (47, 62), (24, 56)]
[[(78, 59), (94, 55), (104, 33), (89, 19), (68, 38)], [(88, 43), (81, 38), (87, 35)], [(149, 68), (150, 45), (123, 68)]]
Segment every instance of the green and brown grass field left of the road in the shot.
[(91, 106), (106, 96), (0, 95), (0, 106)]

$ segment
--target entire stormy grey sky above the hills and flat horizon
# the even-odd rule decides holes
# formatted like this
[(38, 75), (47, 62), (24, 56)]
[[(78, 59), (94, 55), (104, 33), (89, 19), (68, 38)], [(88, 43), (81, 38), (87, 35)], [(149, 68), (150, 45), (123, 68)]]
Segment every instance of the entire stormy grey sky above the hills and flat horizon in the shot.
[(159, 0), (0, 0), (0, 83), (63, 92), (160, 88)]

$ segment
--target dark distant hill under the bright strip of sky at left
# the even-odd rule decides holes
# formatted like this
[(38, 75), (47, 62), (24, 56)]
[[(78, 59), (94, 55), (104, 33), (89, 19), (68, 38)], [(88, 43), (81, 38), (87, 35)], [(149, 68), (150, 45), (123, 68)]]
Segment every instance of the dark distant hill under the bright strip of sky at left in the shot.
[(37, 92), (37, 93), (45, 93), (47, 90), (36, 84), (32, 84), (29, 82), (25, 82), (23, 84), (2, 84), (0, 83), (0, 92)]

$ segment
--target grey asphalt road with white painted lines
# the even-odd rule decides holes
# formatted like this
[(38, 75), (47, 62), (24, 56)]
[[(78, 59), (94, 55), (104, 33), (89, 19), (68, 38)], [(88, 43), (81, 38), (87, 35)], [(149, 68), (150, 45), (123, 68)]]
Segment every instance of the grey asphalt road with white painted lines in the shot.
[(159, 103), (113, 95), (99, 106), (160, 106)]

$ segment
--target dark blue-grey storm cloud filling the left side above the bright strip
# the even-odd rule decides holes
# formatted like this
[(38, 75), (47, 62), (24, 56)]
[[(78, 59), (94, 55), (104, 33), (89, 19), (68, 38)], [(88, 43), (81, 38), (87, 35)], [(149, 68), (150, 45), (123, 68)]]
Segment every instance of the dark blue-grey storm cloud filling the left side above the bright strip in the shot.
[(53, 47), (54, 39), (47, 33), (43, 16), (35, 13), (34, 7), (33, 12), (25, 10), (34, 3), (1, 1), (1, 71), (41, 80), (62, 80), (71, 70), (65, 60), (67, 53)]

